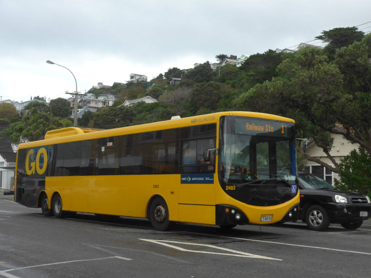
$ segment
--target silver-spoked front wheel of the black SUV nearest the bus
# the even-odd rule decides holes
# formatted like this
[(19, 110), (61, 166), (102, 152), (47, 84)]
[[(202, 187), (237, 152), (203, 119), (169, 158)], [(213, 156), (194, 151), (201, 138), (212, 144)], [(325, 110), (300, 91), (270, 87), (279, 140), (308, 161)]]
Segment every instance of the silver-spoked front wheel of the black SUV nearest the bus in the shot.
[(324, 231), (330, 225), (330, 218), (323, 206), (312, 205), (306, 211), (305, 223), (313, 231)]

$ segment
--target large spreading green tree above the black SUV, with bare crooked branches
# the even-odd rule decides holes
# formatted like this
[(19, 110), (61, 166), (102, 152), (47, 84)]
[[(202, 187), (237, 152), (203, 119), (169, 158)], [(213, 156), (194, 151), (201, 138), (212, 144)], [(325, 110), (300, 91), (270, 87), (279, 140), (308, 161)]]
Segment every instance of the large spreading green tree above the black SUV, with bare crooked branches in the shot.
[[(305, 158), (339, 173), (338, 164), (329, 154), (329, 133), (343, 135), (371, 155), (370, 56), (370, 34), (338, 50), (333, 62), (324, 50), (305, 47), (278, 66), (278, 77), (242, 94), (237, 105), (295, 119), (299, 137), (314, 138), (334, 166), (303, 153)], [(336, 128), (335, 123), (342, 128)]]

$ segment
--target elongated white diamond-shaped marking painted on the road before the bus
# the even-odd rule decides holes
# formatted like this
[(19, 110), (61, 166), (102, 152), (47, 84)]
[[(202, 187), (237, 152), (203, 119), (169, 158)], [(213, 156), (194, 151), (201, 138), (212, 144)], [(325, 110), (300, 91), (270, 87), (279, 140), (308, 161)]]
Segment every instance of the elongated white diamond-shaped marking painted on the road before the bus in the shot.
[[(142, 240), (142, 241), (149, 241), (149, 242), (152, 242), (152, 243), (161, 244), (161, 245), (164, 245), (164, 246), (167, 246), (167, 247), (170, 247), (170, 248), (174, 248), (174, 249), (177, 249), (177, 250), (180, 250), (180, 251), (184, 251), (184, 252), (194, 252), (194, 253), (204, 253), (204, 254), (225, 255), (225, 256), (234, 256), (234, 257), (243, 257), (243, 258), (256, 258), (256, 259), (269, 259), (269, 260), (282, 261), (281, 259), (275, 259), (275, 258), (270, 258), (270, 257), (254, 255), (254, 254), (250, 254), (250, 253), (245, 253), (245, 252), (232, 250), (232, 249), (228, 249), (228, 248), (223, 248), (223, 247), (218, 247), (218, 246), (209, 245), (209, 244), (196, 244), (196, 243), (190, 243), (190, 242), (153, 240), (153, 239), (142, 239), (142, 238), (139, 238), (139, 239)], [(220, 249), (220, 250), (223, 250), (223, 251), (236, 253), (236, 254), (189, 250), (189, 249), (184, 249), (184, 248), (181, 248), (181, 247), (178, 247), (178, 246), (175, 246), (175, 245), (167, 244), (165, 242), (175, 243), (175, 244), (205, 246), (205, 247)]]

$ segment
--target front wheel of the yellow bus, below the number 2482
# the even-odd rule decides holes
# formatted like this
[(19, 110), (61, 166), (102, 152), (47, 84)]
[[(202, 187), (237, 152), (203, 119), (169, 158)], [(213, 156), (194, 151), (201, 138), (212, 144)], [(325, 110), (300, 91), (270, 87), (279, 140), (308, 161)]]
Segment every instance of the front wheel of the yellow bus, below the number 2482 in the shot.
[(149, 214), (151, 224), (157, 231), (168, 231), (174, 225), (174, 222), (169, 221), (167, 204), (160, 196), (152, 200)]

